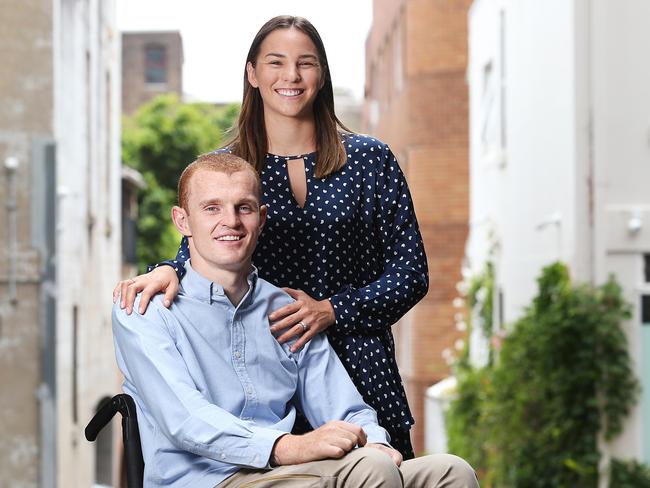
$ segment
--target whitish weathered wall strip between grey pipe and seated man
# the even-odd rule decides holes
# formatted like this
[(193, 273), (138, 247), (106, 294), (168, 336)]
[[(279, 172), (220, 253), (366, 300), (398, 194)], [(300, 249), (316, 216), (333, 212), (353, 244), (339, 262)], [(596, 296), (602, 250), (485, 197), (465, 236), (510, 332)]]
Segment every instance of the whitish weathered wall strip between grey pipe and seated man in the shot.
[(83, 428), (119, 390), (110, 296), (121, 266), (120, 35), (112, 1), (63, 1), (54, 21), (57, 478), (88, 486), (94, 446)]

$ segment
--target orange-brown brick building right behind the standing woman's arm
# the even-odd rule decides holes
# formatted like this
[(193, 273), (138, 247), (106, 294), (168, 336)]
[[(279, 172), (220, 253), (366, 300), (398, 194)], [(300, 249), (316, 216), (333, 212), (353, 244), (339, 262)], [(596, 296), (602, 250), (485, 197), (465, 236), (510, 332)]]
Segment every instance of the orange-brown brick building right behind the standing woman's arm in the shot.
[(460, 337), (452, 301), (468, 219), (469, 0), (374, 0), (366, 43), (364, 131), (387, 142), (413, 196), (429, 261), (428, 295), (394, 328), (398, 363), (424, 448), (424, 394), (448, 374)]

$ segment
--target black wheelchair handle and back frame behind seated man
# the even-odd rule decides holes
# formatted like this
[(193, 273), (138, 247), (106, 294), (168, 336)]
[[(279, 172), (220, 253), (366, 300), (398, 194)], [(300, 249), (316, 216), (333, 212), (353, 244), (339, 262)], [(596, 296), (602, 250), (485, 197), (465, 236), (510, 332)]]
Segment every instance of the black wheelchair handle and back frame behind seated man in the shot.
[(86, 426), (86, 439), (93, 442), (99, 432), (108, 424), (116, 413), (122, 415), (122, 440), (124, 441), (124, 470), (127, 488), (142, 488), (144, 479), (144, 459), (138, 416), (135, 402), (131, 396), (121, 393), (107, 401), (90, 419)]

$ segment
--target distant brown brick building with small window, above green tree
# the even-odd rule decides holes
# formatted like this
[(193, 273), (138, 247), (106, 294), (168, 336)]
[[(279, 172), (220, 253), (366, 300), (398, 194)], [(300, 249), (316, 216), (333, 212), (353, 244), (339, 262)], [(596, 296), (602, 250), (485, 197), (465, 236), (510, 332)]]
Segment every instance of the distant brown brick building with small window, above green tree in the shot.
[(122, 33), (122, 111), (130, 115), (162, 93), (183, 94), (180, 32)]

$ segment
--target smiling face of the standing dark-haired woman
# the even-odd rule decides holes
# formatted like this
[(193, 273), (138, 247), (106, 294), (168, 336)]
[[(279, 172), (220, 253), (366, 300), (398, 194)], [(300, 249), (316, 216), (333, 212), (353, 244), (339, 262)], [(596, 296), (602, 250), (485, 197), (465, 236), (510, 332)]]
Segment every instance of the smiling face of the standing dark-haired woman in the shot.
[(313, 104), (323, 86), (316, 46), (302, 31), (276, 29), (260, 46), (255, 66), (246, 66), (248, 81), (258, 88), (266, 115), (313, 117)]

